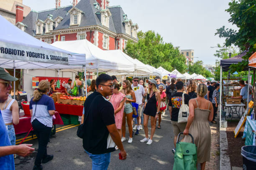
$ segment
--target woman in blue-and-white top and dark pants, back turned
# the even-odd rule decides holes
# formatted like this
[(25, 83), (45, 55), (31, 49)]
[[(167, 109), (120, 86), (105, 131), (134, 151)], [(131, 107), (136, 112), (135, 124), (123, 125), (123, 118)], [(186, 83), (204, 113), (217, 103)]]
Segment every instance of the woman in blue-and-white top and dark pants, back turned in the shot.
[(47, 80), (41, 80), (29, 105), (31, 124), (38, 138), (38, 152), (33, 170), (42, 170), (41, 163), (47, 163), (53, 159), (53, 155), (47, 155), (46, 149), (51, 135), (52, 116), (55, 113), (54, 100), (47, 95), (50, 89), (50, 83)]

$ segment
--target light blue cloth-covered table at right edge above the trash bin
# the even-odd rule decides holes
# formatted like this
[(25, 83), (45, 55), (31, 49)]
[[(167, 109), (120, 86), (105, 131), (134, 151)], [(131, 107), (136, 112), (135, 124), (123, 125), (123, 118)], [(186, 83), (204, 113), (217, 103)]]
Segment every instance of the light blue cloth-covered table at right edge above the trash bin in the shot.
[(246, 125), (243, 131), (243, 138), (246, 138), (245, 145), (255, 145), (256, 120), (251, 120), (251, 116), (246, 116)]

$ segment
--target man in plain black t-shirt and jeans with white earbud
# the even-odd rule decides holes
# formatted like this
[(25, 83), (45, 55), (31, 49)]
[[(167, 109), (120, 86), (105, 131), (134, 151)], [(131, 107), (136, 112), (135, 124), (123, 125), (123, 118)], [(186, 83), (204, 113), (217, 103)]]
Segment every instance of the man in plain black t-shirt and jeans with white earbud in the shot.
[(92, 169), (106, 170), (115, 145), (123, 159), (126, 152), (115, 125), (113, 105), (105, 98), (113, 94), (113, 79), (110, 75), (101, 74), (96, 79), (96, 86), (97, 91), (84, 102), (83, 147), (92, 159)]

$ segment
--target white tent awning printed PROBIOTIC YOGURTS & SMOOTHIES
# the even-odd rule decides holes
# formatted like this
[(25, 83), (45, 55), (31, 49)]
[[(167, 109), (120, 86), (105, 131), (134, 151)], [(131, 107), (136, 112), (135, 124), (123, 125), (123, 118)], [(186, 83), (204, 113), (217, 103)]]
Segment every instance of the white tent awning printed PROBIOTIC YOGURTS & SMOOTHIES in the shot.
[[(68, 67), (70, 63), (84, 58), (84, 55), (71, 57), (69, 51), (53, 47), (28, 35), (1, 15), (0, 23), (2, 25), (0, 27), (0, 67), (59, 68)], [(79, 64), (79, 62), (72, 64)]]

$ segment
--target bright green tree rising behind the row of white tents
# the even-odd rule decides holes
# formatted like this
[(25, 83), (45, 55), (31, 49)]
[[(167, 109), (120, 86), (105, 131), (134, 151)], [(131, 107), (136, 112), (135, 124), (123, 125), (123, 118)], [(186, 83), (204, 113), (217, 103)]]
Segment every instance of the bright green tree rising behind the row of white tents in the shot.
[(150, 30), (138, 32), (138, 43), (128, 41), (124, 52), (156, 68), (163, 67), (168, 71), (177, 69), (179, 72), (186, 71), (186, 58), (179, 51), (179, 47), (174, 47), (172, 43), (163, 41), (159, 33)]

